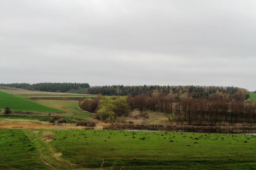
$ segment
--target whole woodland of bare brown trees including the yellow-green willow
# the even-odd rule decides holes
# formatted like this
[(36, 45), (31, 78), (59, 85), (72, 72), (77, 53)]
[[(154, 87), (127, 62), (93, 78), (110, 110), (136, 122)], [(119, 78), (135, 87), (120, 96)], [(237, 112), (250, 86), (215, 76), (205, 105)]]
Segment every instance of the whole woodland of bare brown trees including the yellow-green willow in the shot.
[(243, 88), (179, 86), (177, 91), (170, 88), (169, 93), (167, 89), (160, 88), (152, 93), (146, 90), (128, 97), (98, 95), (98, 98), (84, 99), (79, 106), (96, 113), (96, 119), (108, 122), (138, 109), (141, 117), (147, 117), (147, 110), (159, 111), (168, 116), (170, 123), (186, 125), (256, 123), (256, 104), (246, 101), (248, 94)]

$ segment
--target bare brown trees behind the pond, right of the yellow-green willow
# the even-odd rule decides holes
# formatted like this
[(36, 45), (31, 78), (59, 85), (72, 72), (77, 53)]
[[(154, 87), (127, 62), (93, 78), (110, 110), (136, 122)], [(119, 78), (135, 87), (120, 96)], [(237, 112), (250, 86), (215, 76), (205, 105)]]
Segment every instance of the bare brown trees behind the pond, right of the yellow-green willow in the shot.
[(223, 123), (256, 123), (256, 104), (244, 101), (245, 93), (228, 95), (217, 91), (207, 98), (193, 98), (187, 93), (164, 95), (158, 91), (129, 96), (131, 109), (140, 114), (149, 109), (164, 112), (170, 122), (187, 125), (222, 125)]

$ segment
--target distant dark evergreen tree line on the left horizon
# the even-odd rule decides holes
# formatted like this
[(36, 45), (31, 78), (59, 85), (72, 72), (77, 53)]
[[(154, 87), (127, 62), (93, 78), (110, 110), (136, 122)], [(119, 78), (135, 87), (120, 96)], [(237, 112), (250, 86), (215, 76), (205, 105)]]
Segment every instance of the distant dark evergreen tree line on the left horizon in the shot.
[(90, 87), (88, 83), (36, 83), (32, 85), (28, 83), (12, 83), (0, 84), (0, 86), (49, 92), (68, 92)]

